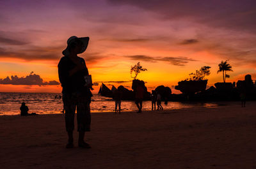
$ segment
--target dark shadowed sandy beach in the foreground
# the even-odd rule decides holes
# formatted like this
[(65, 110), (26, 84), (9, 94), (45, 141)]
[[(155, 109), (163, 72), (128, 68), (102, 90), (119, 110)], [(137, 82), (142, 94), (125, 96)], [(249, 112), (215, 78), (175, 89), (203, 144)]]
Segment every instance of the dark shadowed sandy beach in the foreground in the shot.
[(0, 117), (0, 168), (256, 168), (256, 104), (92, 114), (65, 149), (64, 117)]

